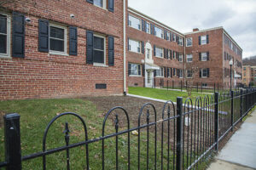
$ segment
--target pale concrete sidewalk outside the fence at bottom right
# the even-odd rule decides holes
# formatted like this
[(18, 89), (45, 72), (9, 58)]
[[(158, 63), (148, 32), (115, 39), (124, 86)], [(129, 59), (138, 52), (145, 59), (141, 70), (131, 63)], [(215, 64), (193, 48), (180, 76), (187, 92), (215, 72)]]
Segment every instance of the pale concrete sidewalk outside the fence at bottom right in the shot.
[(207, 170), (256, 169), (256, 111), (242, 123)]

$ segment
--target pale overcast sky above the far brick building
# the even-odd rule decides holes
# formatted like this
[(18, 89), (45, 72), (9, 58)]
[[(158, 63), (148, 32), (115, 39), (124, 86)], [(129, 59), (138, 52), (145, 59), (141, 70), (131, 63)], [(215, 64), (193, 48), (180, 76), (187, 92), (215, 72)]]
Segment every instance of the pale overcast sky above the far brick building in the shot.
[(256, 0), (128, 0), (129, 6), (186, 33), (193, 28), (224, 29), (243, 49), (256, 55)]

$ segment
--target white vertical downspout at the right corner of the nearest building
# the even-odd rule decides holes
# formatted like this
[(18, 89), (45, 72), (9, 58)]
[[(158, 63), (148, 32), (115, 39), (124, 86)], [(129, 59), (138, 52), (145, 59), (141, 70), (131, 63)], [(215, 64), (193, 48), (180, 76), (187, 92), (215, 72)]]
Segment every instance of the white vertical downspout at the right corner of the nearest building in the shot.
[(126, 95), (126, 0), (123, 0), (124, 10), (124, 95)]

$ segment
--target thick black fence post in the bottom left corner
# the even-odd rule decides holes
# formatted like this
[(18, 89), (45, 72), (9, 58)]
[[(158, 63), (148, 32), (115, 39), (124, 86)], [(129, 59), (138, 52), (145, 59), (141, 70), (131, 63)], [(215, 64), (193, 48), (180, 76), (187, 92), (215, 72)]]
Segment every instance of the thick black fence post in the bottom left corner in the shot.
[(7, 170), (21, 170), (20, 115), (12, 113), (3, 116), (5, 161)]

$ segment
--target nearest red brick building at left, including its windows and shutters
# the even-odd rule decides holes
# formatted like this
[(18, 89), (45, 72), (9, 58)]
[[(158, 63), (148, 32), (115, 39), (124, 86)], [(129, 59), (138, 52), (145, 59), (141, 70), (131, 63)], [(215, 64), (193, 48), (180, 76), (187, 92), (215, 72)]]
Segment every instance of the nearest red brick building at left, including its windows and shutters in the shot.
[(0, 99), (123, 94), (127, 1), (15, 2), (1, 3)]

